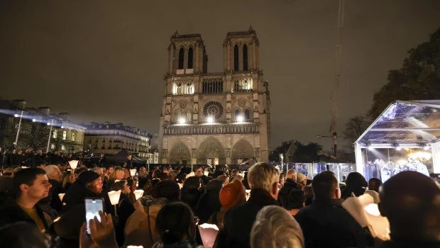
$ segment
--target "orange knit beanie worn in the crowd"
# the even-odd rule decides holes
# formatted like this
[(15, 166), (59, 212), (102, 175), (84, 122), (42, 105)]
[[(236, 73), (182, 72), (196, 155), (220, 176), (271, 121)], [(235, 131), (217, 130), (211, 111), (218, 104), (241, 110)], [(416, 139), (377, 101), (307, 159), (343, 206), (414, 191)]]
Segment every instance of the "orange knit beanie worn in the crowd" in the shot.
[(222, 208), (232, 208), (246, 201), (246, 188), (241, 181), (233, 181), (221, 188), (219, 198)]

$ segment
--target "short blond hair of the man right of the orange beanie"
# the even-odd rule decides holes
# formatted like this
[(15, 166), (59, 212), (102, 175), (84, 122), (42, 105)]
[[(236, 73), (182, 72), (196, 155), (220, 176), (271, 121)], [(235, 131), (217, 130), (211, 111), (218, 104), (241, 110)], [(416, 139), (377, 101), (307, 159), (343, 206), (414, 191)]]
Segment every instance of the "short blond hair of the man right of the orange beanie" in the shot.
[(254, 164), (248, 173), (248, 183), (253, 188), (272, 191), (272, 186), (280, 180), (280, 171), (266, 163)]

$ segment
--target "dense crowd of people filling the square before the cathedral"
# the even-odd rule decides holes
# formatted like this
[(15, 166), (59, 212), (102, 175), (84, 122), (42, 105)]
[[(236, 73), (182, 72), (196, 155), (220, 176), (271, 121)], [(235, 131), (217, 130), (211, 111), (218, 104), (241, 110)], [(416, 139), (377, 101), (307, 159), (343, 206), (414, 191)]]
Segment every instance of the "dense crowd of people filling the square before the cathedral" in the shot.
[[(214, 224), (214, 247), (440, 247), (440, 188), (402, 171), (384, 184), (331, 171), (312, 180), (270, 164), (218, 167), (11, 167), (0, 176), (0, 247), (202, 247), (199, 225)], [(135, 191), (143, 190), (136, 198)], [(110, 191), (121, 191), (111, 205)], [(373, 238), (343, 207), (369, 194), (390, 222), (390, 240)], [(84, 201), (102, 198), (89, 221)]]

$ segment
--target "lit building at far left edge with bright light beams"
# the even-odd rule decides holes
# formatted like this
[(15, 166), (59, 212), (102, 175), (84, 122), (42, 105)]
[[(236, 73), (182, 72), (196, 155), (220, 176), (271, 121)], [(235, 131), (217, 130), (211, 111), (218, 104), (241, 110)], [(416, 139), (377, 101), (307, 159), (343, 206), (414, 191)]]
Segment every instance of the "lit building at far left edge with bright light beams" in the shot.
[(29, 108), (24, 100), (2, 100), (0, 109), (2, 149), (82, 151), (86, 127), (69, 120), (68, 113), (50, 113), (48, 107)]

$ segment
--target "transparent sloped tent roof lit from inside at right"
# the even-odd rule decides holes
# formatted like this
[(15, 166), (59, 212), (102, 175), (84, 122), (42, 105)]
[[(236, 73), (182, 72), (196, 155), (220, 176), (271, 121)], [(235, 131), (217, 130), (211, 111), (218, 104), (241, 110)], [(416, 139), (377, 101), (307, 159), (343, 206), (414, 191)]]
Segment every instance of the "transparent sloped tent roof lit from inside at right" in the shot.
[(356, 140), (361, 147), (422, 147), (440, 139), (440, 100), (395, 101)]

